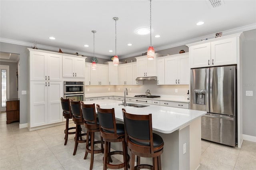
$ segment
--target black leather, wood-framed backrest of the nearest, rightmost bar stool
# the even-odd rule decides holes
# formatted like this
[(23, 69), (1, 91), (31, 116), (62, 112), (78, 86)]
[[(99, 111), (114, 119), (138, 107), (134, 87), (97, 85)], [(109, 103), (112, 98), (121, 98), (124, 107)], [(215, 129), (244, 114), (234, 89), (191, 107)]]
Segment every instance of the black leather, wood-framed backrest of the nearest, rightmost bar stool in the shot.
[[(135, 115), (127, 113), (123, 108), (124, 129), (126, 132), (127, 140), (132, 142), (144, 142), (150, 147), (150, 152), (154, 153), (153, 146), (153, 130), (152, 130), (152, 114), (148, 115)], [(133, 142), (132, 142), (133, 143)], [(143, 145), (146, 147), (147, 145)]]

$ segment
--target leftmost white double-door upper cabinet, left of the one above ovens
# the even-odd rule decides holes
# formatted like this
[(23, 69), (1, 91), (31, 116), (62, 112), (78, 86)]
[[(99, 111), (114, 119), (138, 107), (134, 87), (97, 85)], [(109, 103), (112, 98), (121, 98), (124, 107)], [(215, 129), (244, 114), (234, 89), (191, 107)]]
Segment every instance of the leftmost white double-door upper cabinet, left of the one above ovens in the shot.
[(30, 50), (30, 81), (62, 81), (62, 55)]

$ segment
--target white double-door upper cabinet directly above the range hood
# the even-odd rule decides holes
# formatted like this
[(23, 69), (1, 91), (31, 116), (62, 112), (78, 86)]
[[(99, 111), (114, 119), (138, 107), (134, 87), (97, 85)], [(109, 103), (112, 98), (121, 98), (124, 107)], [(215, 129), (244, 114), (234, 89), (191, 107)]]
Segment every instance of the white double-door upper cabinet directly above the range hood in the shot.
[(138, 77), (154, 77), (157, 75), (156, 71), (156, 58), (161, 57), (160, 54), (155, 54), (154, 59), (149, 60), (147, 56), (135, 57), (137, 63), (137, 76)]

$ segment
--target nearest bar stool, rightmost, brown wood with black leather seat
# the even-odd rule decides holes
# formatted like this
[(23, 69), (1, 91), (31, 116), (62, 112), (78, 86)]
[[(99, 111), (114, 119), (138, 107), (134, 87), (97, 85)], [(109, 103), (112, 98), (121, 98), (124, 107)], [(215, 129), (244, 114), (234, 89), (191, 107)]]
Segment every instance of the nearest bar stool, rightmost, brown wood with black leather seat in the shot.
[[(131, 170), (147, 168), (161, 170), (161, 157), (164, 148), (164, 140), (161, 136), (152, 132), (152, 114), (134, 115), (127, 113), (123, 108), (124, 127), (127, 146), (131, 150)], [(135, 164), (137, 155), (137, 165)], [(153, 158), (153, 166), (140, 164), (140, 157)]]

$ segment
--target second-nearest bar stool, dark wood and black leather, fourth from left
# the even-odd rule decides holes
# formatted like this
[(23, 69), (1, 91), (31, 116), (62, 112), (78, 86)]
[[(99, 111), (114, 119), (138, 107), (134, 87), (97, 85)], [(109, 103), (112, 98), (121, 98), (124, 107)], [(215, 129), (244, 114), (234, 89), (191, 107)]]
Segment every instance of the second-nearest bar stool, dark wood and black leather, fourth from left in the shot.
[[(100, 123), (100, 136), (102, 136), (105, 141), (103, 170), (106, 170), (107, 168), (124, 168), (125, 170), (127, 170), (130, 156), (127, 153), (127, 145), (124, 140), (124, 124), (116, 123), (114, 108), (101, 109), (100, 105), (96, 106), (98, 111), (98, 119)], [(122, 142), (123, 151), (110, 152), (110, 142)], [(122, 154), (124, 162), (121, 164), (110, 164), (109, 157), (114, 154)]]

